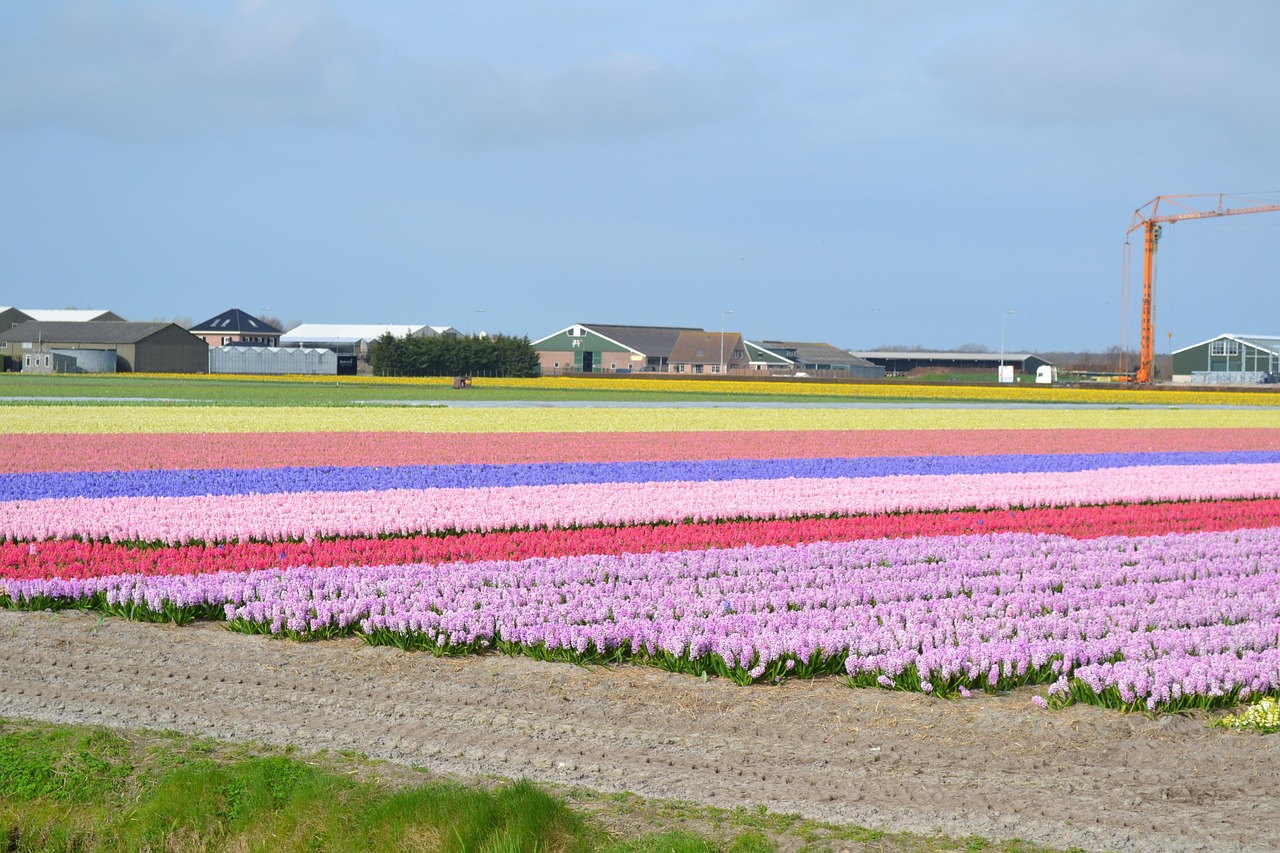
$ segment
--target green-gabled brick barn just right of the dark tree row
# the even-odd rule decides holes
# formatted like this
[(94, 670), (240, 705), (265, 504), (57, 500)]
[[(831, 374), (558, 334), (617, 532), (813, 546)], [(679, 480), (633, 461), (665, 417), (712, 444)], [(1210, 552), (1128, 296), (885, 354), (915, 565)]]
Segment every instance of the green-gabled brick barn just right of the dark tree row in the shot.
[[(671, 351), (684, 332), (672, 325), (575, 323), (532, 342), (543, 375), (562, 373), (667, 373)], [(718, 364), (718, 362), (717, 362)]]

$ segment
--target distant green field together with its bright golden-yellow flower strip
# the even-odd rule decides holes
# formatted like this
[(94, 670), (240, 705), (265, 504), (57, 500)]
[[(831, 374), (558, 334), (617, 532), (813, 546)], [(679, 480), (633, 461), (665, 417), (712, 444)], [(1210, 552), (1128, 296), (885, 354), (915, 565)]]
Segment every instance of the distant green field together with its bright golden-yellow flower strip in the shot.
[(996, 386), (961, 377), (934, 380), (831, 382), (675, 377), (451, 378), (209, 377), (172, 374), (0, 374), (0, 405), (58, 400), (148, 401), (221, 406), (360, 406), (370, 402), (1027, 402), (1098, 405), (1280, 405), (1271, 389)]

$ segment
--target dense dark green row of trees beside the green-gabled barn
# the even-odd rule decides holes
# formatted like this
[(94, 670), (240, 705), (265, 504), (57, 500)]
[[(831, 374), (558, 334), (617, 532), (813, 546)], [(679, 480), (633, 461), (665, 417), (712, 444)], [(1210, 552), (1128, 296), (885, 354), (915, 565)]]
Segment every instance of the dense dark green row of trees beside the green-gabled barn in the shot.
[(374, 342), (369, 362), (375, 377), (536, 377), (538, 351), (527, 337), (397, 338)]

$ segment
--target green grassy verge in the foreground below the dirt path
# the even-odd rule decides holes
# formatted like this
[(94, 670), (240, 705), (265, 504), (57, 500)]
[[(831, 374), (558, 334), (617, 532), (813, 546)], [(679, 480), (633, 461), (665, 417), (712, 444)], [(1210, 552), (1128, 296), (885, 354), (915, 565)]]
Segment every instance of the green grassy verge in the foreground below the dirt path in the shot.
[(918, 836), (530, 783), (462, 785), (355, 754), (0, 720), (9, 850), (882, 850), (1046, 848)]

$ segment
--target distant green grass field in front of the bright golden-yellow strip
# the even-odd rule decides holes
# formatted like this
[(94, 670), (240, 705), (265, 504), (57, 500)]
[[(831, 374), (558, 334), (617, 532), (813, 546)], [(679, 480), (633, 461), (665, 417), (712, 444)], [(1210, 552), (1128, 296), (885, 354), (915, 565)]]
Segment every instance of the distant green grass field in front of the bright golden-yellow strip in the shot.
[[(389, 384), (343, 379), (342, 382), (316, 382), (273, 379), (256, 382), (252, 379), (178, 379), (172, 377), (146, 375), (31, 375), (8, 373), (0, 374), (0, 405), (23, 405), (28, 402), (58, 402), (59, 398), (87, 398), (92, 402), (156, 401), (177, 405), (219, 405), (219, 406), (356, 406), (367, 401), (392, 402), (449, 402), (449, 401), (539, 401), (539, 402), (818, 402), (822, 396), (814, 394), (751, 394), (723, 392), (662, 392), (630, 391), (621, 380), (617, 389), (571, 388), (484, 388), (453, 389), (440, 384)], [(847, 387), (832, 386), (831, 398), (840, 402), (858, 402), (850, 396)], [(38, 400), (24, 401), (23, 397)], [(883, 401), (883, 396), (867, 400)]]

